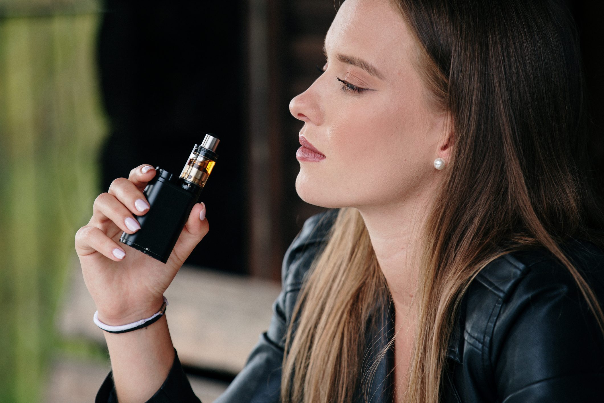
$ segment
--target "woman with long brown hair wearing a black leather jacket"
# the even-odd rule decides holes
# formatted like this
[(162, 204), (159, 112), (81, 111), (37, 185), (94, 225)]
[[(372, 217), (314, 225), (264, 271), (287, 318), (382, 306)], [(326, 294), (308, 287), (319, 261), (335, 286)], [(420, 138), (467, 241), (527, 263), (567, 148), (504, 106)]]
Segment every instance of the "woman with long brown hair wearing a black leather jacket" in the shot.
[[(601, 401), (604, 215), (568, 10), (348, 0), (325, 50), (289, 107), (298, 195), (331, 210), (289, 247), (271, 325), (218, 401)], [(104, 324), (158, 312), (208, 232), (199, 204), (166, 265), (124, 250), (154, 175), (116, 179), (76, 234)], [(198, 401), (165, 317), (104, 335), (97, 401)]]

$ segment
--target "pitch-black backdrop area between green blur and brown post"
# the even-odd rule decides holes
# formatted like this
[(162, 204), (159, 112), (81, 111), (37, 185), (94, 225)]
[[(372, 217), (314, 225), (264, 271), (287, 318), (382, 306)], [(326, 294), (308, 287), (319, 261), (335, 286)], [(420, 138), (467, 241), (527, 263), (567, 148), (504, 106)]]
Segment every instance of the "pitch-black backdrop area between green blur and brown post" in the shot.
[(101, 188), (144, 163), (179, 175), (193, 145), (216, 134), (220, 158), (202, 196), (214, 225), (188, 263), (239, 273), (248, 272), (243, 7), (107, 0), (97, 39), (109, 122)]

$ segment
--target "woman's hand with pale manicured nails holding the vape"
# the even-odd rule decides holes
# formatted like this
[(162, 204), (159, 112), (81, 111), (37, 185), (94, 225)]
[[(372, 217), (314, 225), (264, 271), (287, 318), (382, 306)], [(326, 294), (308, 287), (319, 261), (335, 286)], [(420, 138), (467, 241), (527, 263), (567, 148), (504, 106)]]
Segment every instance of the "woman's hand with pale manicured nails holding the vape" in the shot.
[(115, 179), (109, 192), (95, 199), (88, 225), (76, 233), (86, 287), (97, 305), (99, 320), (112, 326), (155, 314), (165, 289), (209, 230), (207, 219), (199, 217), (202, 210), (205, 216), (205, 205), (194, 205), (165, 264), (119, 242), (123, 231), (133, 234), (138, 230), (136, 216), (149, 211), (143, 190), (155, 173), (144, 164), (130, 171), (128, 179)]

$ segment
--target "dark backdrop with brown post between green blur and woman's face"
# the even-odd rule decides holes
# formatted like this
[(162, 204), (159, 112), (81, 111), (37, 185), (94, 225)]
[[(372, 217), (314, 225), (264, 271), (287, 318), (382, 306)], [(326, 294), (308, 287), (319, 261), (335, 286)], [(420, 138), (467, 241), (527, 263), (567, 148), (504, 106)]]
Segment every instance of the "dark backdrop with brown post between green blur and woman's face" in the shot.
[(180, 173), (215, 133), (220, 160), (202, 196), (214, 225), (187, 262), (278, 280), (301, 222), (320, 211), (295, 193), (302, 125), (288, 106), (318, 75), (333, 4), (106, 0), (103, 10), (101, 189), (143, 163)]

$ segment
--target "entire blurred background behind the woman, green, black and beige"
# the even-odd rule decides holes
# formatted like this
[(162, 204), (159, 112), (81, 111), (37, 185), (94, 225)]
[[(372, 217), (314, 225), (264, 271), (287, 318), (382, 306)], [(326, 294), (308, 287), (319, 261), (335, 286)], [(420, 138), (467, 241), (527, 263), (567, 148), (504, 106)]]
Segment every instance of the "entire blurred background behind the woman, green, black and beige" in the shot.
[[(323, 210), (295, 192), (289, 101), (320, 74), (338, 3), (0, 0), (0, 402), (91, 401), (108, 356), (74, 234), (113, 179), (178, 174), (208, 132), (211, 230), (166, 295), (196, 392), (222, 392), (268, 326), (284, 251)], [(602, 132), (603, 6), (568, 4)]]

